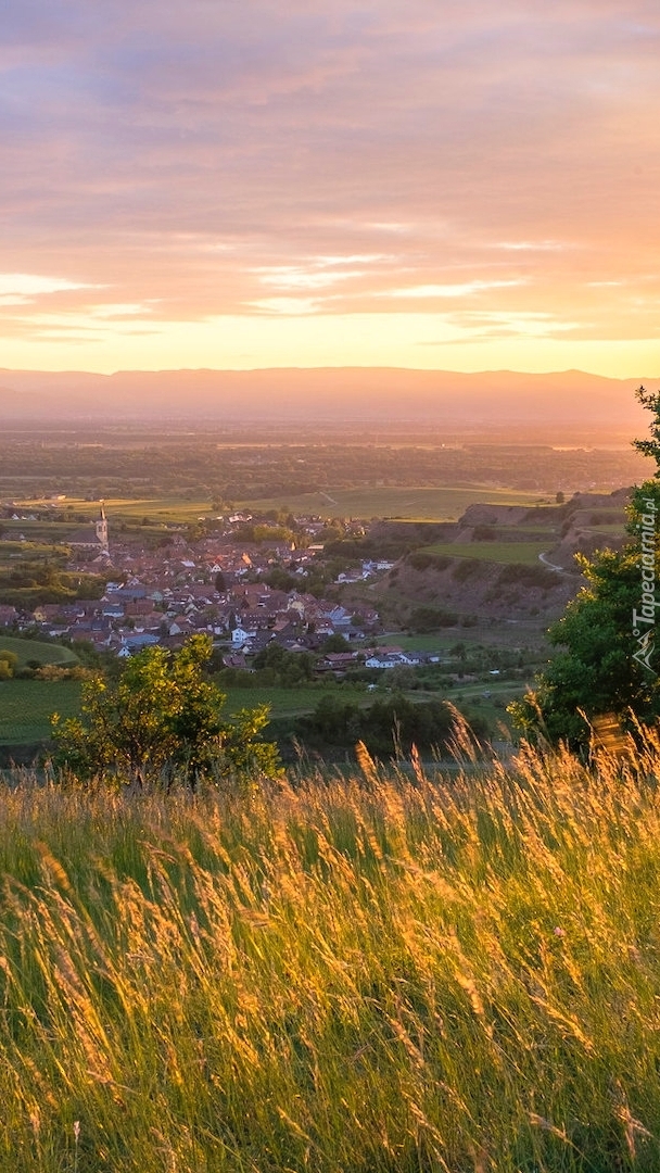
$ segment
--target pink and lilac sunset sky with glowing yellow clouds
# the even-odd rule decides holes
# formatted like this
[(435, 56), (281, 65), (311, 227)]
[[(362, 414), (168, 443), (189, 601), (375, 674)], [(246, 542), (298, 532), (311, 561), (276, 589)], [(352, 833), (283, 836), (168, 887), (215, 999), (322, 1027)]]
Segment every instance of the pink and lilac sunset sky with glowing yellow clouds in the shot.
[(0, 0), (0, 367), (660, 372), (658, 0)]

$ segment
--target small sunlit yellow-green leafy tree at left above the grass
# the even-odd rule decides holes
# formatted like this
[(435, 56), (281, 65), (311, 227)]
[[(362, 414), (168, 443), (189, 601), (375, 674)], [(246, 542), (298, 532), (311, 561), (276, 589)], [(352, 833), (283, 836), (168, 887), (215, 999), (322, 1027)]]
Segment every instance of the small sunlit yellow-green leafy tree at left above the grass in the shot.
[(267, 707), (223, 719), (225, 696), (204, 679), (209, 636), (176, 653), (155, 646), (132, 657), (120, 679), (83, 685), (82, 718), (52, 718), (55, 762), (81, 779), (103, 772), (143, 785), (183, 774), (197, 779), (278, 773), (274, 745), (261, 740)]

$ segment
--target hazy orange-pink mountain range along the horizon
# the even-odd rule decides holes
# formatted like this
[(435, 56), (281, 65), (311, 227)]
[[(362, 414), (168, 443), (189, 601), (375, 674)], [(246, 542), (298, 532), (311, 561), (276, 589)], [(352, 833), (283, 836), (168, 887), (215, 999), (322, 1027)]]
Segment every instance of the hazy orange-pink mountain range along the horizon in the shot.
[[(583, 371), (416, 371), (389, 367), (257, 371), (9, 371), (0, 368), (0, 423), (213, 421), (288, 428), (324, 425), (368, 439), (396, 425), (478, 435), (525, 432), (547, 442), (567, 435), (646, 433), (633, 392), (644, 381)], [(368, 432), (365, 432), (368, 428)]]

